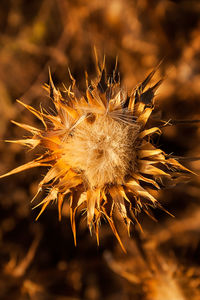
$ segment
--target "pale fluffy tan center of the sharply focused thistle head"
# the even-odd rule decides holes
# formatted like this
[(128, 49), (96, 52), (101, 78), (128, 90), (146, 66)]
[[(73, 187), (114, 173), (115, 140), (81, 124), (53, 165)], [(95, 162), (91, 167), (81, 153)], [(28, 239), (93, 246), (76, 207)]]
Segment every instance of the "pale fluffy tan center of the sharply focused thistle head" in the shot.
[(63, 159), (82, 172), (91, 187), (122, 184), (128, 170), (134, 169), (134, 141), (138, 125), (125, 125), (108, 116), (84, 120), (63, 142)]

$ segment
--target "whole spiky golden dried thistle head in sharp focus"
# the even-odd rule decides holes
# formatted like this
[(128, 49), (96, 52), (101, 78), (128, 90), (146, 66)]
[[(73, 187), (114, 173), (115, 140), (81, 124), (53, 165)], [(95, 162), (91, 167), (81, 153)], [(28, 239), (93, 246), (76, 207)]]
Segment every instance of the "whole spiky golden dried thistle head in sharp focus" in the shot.
[(90, 85), (86, 76), (85, 95), (78, 91), (72, 76), (72, 86), (61, 92), (50, 75), (46, 89), (57, 115), (37, 111), (19, 101), (41, 120), (44, 129), (13, 122), (32, 134), (17, 143), (32, 149), (42, 145), (46, 150), (39, 158), (1, 177), (33, 167), (50, 167), (39, 183), (37, 194), (44, 188), (49, 192), (39, 203), (42, 208), (38, 217), (56, 200), (60, 219), (62, 204), (69, 201), (75, 243), (75, 215), (85, 207), (89, 229), (95, 230), (97, 242), (100, 220), (104, 217), (123, 248), (113, 218), (115, 213), (129, 232), (141, 208), (149, 213), (149, 206), (159, 205), (145, 186), (159, 189), (161, 178), (175, 178), (188, 171), (151, 143), (151, 136), (161, 133), (158, 127), (149, 125), (154, 92), (161, 83), (147, 88), (155, 71), (130, 95), (120, 86), (116, 67), (113, 76), (107, 78), (104, 63), (101, 67), (97, 63), (97, 78)]

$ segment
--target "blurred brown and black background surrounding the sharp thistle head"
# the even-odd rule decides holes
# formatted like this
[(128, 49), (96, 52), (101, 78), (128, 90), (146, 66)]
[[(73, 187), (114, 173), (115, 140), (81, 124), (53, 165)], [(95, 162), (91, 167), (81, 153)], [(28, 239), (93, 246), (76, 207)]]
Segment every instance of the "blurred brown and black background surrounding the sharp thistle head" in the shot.
[[(118, 56), (128, 91), (163, 60), (156, 103), (176, 126), (163, 128), (156, 143), (199, 174), (198, 0), (1, 0), (0, 174), (34, 156), (3, 142), (25, 135), (10, 120), (37, 125), (16, 99), (47, 108), (48, 67), (58, 87), (70, 84), (69, 67), (84, 91), (85, 70), (95, 76), (94, 46), (106, 55), (108, 73)], [(156, 209), (154, 222), (141, 213), (143, 232), (135, 226), (124, 237), (125, 254), (108, 224), (97, 247), (80, 217), (74, 247), (67, 204), (61, 222), (56, 205), (35, 222), (30, 200), (43, 174), (32, 169), (0, 180), (0, 299), (200, 299), (199, 176), (159, 192), (175, 218)]]

